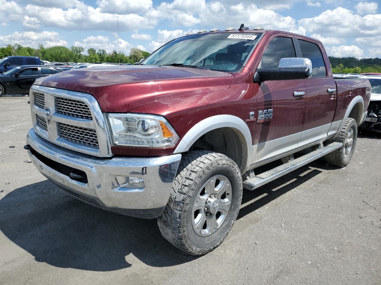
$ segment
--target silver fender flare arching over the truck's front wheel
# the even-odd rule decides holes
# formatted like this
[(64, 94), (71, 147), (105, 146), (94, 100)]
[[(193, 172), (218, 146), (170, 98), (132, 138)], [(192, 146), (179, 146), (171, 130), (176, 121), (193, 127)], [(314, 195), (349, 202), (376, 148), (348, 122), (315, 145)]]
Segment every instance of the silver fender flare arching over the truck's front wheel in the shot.
[(239, 135), (242, 143), (242, 163), (240, 165), (240, 170), (241, 173), (244, 173), (250, 165), (249, 158), (251, 158), (253, 146), (251, 142), (251, 132), (247, 124), (241, 118), (236, 116), (216, 115), (198, 122), (182, 137), (173, 154), (188, 151), (192, 144), (194, 144), (194, 142), (202, 135), (218, 128), (232, 128)]

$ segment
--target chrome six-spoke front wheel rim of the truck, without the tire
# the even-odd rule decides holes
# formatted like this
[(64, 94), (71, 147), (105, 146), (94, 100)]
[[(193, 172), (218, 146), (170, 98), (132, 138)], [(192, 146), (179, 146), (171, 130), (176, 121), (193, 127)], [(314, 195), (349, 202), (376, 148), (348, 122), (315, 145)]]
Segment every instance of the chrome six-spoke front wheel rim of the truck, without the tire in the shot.
[(224, 223), (231, 206), (232, 188), (224, 175), (210, 177), (197, 193), (192, 208), (195, 233), (207, 237)]

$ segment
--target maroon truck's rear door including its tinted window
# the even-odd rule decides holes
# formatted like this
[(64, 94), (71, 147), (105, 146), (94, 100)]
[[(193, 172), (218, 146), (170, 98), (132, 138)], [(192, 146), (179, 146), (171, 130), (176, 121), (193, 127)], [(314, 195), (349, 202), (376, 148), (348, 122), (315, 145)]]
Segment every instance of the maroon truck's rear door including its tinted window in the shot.
[(299, 147), (325, 138), (336, 108), (336, 84), (328, 74), (323, 53), (318, 44), (298, 39), (301, 57), (312, 61), (312, 77), (306, 84), (306, 118)]

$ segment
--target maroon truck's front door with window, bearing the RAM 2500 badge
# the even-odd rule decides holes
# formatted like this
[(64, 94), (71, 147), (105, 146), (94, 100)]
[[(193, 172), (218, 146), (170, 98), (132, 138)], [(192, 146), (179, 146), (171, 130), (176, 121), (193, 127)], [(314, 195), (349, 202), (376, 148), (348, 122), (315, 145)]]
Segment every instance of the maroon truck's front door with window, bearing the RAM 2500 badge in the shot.
[[(291, 36), (275, 35), (258, 68), (277, 68), (280, 59), (296, 57), (295, 43)], [(256, 94), (252, 164), (298, 148), (306, 105), (305, 95), (295, 97), (294, 92), (306, 92), (303, 79), (261, 82)]]

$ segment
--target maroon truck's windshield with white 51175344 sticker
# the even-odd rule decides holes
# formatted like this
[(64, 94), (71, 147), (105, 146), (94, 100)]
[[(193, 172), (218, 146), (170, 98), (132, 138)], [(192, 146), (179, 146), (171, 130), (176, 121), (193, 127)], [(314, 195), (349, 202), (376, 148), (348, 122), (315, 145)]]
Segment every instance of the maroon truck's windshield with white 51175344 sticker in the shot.
[(141, 64), (171, 65), (176, 63), (216, 71), (237, 72), (245, 64), (260, 36), (260, 33), (185, 36), (160, 47)]

